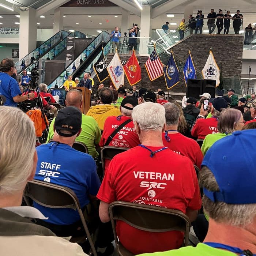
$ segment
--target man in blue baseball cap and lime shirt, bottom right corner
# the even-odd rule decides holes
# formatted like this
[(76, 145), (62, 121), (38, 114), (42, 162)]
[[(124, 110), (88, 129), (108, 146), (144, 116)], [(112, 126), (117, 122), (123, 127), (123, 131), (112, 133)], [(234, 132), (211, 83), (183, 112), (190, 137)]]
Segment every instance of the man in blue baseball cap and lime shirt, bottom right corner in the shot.
[[(203, 208), (209, 228), (203, 243), (144, 256), (256, 255), (256, 143), (253, 130), (236, 131), (207, 151), (200, 172)], [(243, 154), (237, 149), (243, 148)], [(248, 155), (250, 156), (248, 158)]]

